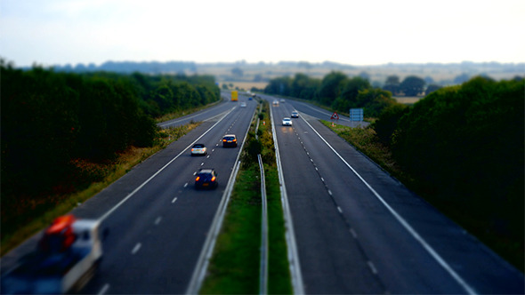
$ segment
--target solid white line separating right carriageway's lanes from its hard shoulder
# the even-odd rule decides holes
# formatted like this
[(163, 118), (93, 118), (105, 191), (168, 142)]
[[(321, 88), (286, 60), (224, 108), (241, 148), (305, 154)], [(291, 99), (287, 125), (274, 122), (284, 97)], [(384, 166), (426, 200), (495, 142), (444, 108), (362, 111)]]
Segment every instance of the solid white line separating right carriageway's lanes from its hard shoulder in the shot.
[(408, 233), (410, 233), (410, 235), (412, 235), (416, 239), (416, 241), (419, 242), (423, 246), (424, 250), (426, 250), (432, 256), (432, 258), (435, 259), (440, 264), (440, 266), (443, 267), (448, 272), (448, 274), (451, 275), (456, 280), (456, 283), (458, 283), (461, 287), (463, 287), (464, 291), (466, 291), (469, 294), (477, 294), (476, 291), (474, 291), (473, 288), (468, 283), (464, 282), (464, 279), (460, 275), (457, 275), (456, 271), (454, 271), (454, 269), (452, 269), (452, 267), (450, 267), (448, 263), (444, 259), (441, 258), (440, 254), (434, 251), (433, 248), (428, 243), (426, 243), (426, 241), (424, 241), (424, 238), (421, 235), (419, 235), (416, 232), (416, 230), (413, 227), (411, 227), (408, 224), (408, 222), (405, 219), (403, 219), (397, 211), (393, 210), (393, 208), (388, 203), (386, 203), (386, 201), (384, 201), (383, 197), (379, 195), (376, 192), (376, 190), (367, 183), (367, 180), (363, 179), (359, 175), (359, 173), (355, 171), (353, 167), (343, 159), (343, 156), (339, 155), (339, 153), (335, 151), (335, 148), (332, 148), (332, 146), (330, 146), (327, 140), (325, 140), (319, 134), (319, 132), (317, 132), (317, 130), (315, 130), (311, 126), (311, 124), (308, 123), (308, 121), (306, 121), (304, 118), (303, 118), (303, 121), (306, 122), (306, 124), (310, 126), (311, 130), (313, 130), (319, 136), (319, 138), (327, 144), (328, 148), (332, 149), (335, 155), (337, 155), (341, 159), (341, 161), (343, 161), (343, 163), (345, 163), (346, 166), (348, 166), (348, 168), (350, 168), (350, 170), (365, 184), (365, 186), (368, 187), (368, 189), (372, 192), (372, 194), (376, 195), (376, 198), (379, 200), (379, 202), (384, 204), (386, 209), (388, 209), (388, 211), (392, 213), (394, 218), (400, 222), (401, 226), (407, 229)]

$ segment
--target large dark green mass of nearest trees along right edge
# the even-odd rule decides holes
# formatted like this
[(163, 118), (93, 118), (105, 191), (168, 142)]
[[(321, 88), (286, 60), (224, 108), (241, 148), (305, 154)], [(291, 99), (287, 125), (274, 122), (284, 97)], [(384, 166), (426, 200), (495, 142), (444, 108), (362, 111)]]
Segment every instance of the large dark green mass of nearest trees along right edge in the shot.
[(373, 124), (419, 192), (523, 253), (523, 79), (487, 77), (393, 104)]

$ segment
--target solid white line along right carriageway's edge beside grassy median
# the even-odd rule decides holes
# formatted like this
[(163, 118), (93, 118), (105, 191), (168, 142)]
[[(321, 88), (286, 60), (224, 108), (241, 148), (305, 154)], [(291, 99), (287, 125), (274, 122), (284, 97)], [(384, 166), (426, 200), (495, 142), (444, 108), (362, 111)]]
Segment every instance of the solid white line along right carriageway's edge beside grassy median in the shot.
[(283, 215), (286, 227), (287, 254), (292, 277), (292, 287), (294, 294), (304, 294), (303, 274), (301, 273), (301, 264), (299, 263), (299, 254), (297, 252), (297, 243), (295, 242), (294, 222), (292, 221), (292, 212), (288, 204), (287, 187), (283, 176), (282, 164), (280, 163), (279, 144), (277, 142), (277, 133), (275, 132), (275, 122), (273, 122), (273, 111), (270, 108), (271, 133), (273, 144), (275, 146), (275, 160), (277, 162), (277, 171), (279, 174), (279, 188), (281, 204), (283, 206)]

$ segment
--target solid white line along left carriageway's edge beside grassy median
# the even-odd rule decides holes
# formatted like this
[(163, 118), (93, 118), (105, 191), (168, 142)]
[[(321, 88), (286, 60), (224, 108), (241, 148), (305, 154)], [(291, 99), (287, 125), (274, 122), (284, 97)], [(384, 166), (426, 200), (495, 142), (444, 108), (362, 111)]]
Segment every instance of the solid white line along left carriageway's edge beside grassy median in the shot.
[[(254, 116), (252, 116), (252, 119), (250, 119), (250, 124), (252, 123)], [(246, 128), (246, 133), (244, 139), (242, 140), (242, 144), (240, 145), (237, 158), (233, 166), (233, 171), (231, 171), (230, 179), (228, 180), (226, 189), (222, 194), (221, 203), (219, 203), (219, 207), (215, 212), (214, 221), (212, 222), (212, 225), (208, 230), (208, 234), (206, 235), (206, 241), (202, 247), (202, 250), (200, 251), (200, 255), (198, 256), (197, 264), (195, 266), (195, 269), (193, 270), (193, 275), (191, 275), (190, 283), (185, 292), (186, 294), (198, 294), (198, 291), (200, 290), (200, 288), (202, 287), (202, 283), (204, 282), (209, 260), (212, 258), (212, 255), (214, 253), (215, 242), (217, 240), (219, 232), (221, 231), (222, 220), (224, 219), (226, 209), (228, 208), (228, 203), (230, 202), (230, 196), (231, 192), (233, 191), (233, 186), (235, 185), (235, 179), (237, 179), (238, 169), (240, 168), (240, 161), (238, 161), (238, 159), (245, 145), (246, 136), (250, 131), (250, 124), (248, 124), (248, 127)]]

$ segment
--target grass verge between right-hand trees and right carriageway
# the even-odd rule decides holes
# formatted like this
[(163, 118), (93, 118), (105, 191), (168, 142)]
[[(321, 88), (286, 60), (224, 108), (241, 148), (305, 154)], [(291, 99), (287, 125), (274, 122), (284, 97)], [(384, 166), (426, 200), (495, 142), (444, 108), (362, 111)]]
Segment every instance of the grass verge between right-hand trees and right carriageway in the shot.
[[(448, 216), (449, 219), (454, 220), (457, 224), (461, 225), (461, 227), (464, 227), (472, 235), (479, 238), (481, 242), (497, 252), (498, 255), (523, 272), (525, 257), (519, 241), (511, 241), (507, 237), (495, 235), (489, 231), (489, 226), (487, 221), (483, 219), (484, 217), (476, 216), (475, 212), (472, 211), (464, 211), (462, 209), (464, 207), (458, 203), (440, 199), (429, 194), (424, 187), (418, 186), (416, 177), (412, 177), (404, 172), (393, 160), (390, 149), (384, 147), (384, 145), (377, 140), (374, 129), (351, 128), (343, 125), (335, 125), (332, 127), (331, 123), (323, 120), (321, 120), (321, 123), (325, 124), (343, 138), (343, 140), (346, 140), (361, 153), (367, 155), (383, 167), (385, 171), (388, 171), (393, 177), (399, 179), (405, 186), (415, 191), (417, 195), (422, 196), (427, 202), (432, 203), (433, 206)], [(461, 200), (457, 200), (456, 202), (460, 203)]]

